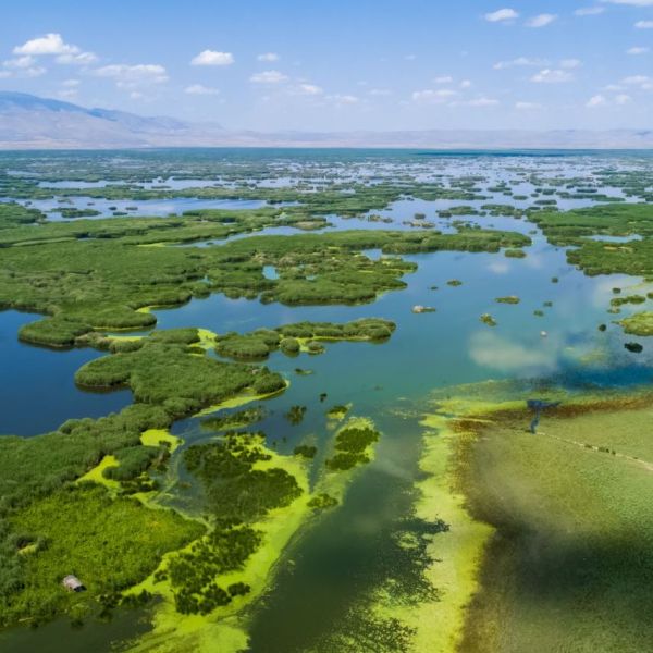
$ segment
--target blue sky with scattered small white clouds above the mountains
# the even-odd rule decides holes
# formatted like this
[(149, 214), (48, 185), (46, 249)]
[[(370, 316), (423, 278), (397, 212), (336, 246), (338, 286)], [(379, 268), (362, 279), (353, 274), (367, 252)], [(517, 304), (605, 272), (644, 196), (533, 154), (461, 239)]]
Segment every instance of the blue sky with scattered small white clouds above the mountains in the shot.
[(653, 127), (653, 0), (21, 0), (0, 90), (232, 130)]

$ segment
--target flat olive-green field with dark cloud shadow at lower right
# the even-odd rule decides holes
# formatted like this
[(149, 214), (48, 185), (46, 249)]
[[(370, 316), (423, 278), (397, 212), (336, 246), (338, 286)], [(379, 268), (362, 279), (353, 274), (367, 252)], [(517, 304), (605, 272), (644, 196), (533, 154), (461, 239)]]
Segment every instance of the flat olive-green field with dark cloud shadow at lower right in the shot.
[(478, 439), (463, 453), (468, 505), (496, 533), (460, 650), (649, 650), (650, 404), (563, 409), (537, 435), (529, 420), (517, 410), (477, 422)]

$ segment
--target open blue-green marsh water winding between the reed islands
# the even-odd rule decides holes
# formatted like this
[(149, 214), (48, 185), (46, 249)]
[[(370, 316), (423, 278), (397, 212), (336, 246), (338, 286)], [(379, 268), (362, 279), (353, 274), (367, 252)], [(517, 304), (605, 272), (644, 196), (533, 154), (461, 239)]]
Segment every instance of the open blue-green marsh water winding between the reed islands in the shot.
[[(147, 160), (147, 155), (138, 156)], [(160, 152), (160, 156), (164, 155)], [(250, 163), (259, 161), (260, 156), (257, 159), (255, 152), (243, 153), (244, 160)], [(205, 161), (207, 157), (200, 150), (193, 153), (192, 159)], [(288, 169), (296, 167), (297, 171), (304, 171), (304, 176), (318, 178), (335, 168), (347, 178), (355, 176), (349, 170), (354, 167), (356, 173), (364, 176), (372, 176), (374, 171), (374, 174), (392, 176), (398, 168), (412, 165), (426, 176), (445, 174), (455, 178), (464, 173), (491, 176), (483, 185), (501, 178), (519, 178), (514, 170), (525, 164), (542, 174), (571, 176), (591, 174), (591, 170), (603, 165), (648, 164), (645, 155), (628, 155), (625, 161), (624, 153), (602, 156), (596, 152), (490, 157), (471, 152), (419, 156), (337, 150), (268, 151), (266, 157), (280, 161), (280, 175), (286, 175)], [(297, 171), (296, 176), (300, 176)], [(526, 188), (523, 184), (519, 181), (514, 186)], [(608, 190), (608, 194), (617, 193)], [(498, 196), (492, 201), (500, 201)], [(518, 201), (501, 198), (502, 204)], [(582, 206), (592, 204), (590, 200), (569, 201)], [(111, 202), (112, 206), (118, 204)], [(139, 202), (139, 206), (145, 204)], [(451, 231), (452, 220), (440, 219), (436, 211), (460, 204), (476, 206), (471, 201), (399, 200), (386, 210), (371, 212), (391, 218), (390, 225), (329, 217), (333, 223), (329, 229), (411, 229), (405, 222), (412, 220), (415, 212), (424, 212), (436, 229)], [(484, 202), (477, 202), (481, 204)], [(522, 233), (535, 230), (532, 223), (505, 217), (465, 220)], [(284, 227), (262, 233), (296, 231)], [(636, 308), (624, 307), (621, 316), (606, 312), (614, 286), (626, 292), (641, 280), (617, 275), (587, 278), (566, 262), (564, 249), (549, 245), (537, 230), (532, 237), (533, 245), (526, 249), (525, 259), (506, 258), (503, 252), (446, 251), (404, 257), (418, 263), (418, 270), (405, 276), (408, 286), (385, 293), (369, 305), (286, 307), (213, 295), (193, 299), (180, 308), (155, 311), (160, 329), (192, 325), (218, 333), (301, 320), (347, 321), (362, 317), (381, 317), (397, 324), (393, 337), (384, 344), (328, 343), (321, 356), (301, 354), (287, 358), (275, 353), (267, 362), (291, 381), (285, 393), (262, 403), (267, 416), (255, 427), (267, 433), (271, 446), (289, 453), (295, 445), (310, 440), (317, 442), (321, 452), (320, 445), (330, 438), (325, 410), (335, 404), (352, 403), (352, 414), (372, 417), (383, 436), (375, 460), (357, 472), (344, 505), (313, 519), (285, 552), (275, 582), (250, 614), (251, 651), (329, 650), (334, 636), (365, 630), (366, 624), (360, 617), (352, 623), (350, 615), (361, 614), (360, 606), (365, 607), (374, 588), (389, 579), (399, 582), (402, 578), (417, 577), (415, 560), (406, 556), (393, 538), (402, 529), (419, 532), (423, 528), (409, 519), (410, 488), (418, 478), (421, 429), (415, 419), (402, 417), (401, 411), (419, 406), (431, 390), (488, 379), (553, 379), (569, 391), (653, 380), (653, 353), (645, 340), (625, 337), (613, 323)], [(220, 243), (211, 243), (201, 245), (220, 246)], [(378, 258), (381, 252), (367, 255)], [(273, 268), (266, 270), (270, 279), (275, 274)], [(553, 276), (559, 282), (553, 283)], [(463, 285), (447, 285), (453, 279), (460, 280)], [(432, 289), (432, 286), (438, 288)], [(638, 293), (642, 289), (649, 288), (640, 287)], [(507, 295), (517, 295), (520, 304), (495, 301), (496, 297)], [(553, 306), (545, 307), (547, 301)], [(432, 306), (436, 310), (416, 315), (411, 311), (415, 305)], [(651, 305), (648, 300), (637, 310), (651, 309)], [(542, 310), (544, 316), (535, 316), (535, 310)], [(497, 325), (483, 324), (480, 321), (483, 313), (491, 313)], [(56, 429), (70, 417), (98, 417), (131, 402), (127, 391), (94, 394), (75, 387), (75, 370), (97, 357), (97, 352), (56, 352), (21, 344), (15, 337), (17, 329), (33, 319), (36, 317), (26, 313), (0, 312), (3, 397), (0, 433), (34, 435)], [(604, 333), (597, 330), (602, 323), (607, 325)], [(624, 348), (627, 341), (641, 342), (644, 352), (628, 353)], [(295, 368), (313, 373), (297, 375)], [(320, 401), (322, 393), (326, 393), (323, 402)], [(297, 426), (284, 417), (294, 405), (307, 407), (304, 421)], [(199, 421), (187, 419), (174, 424), (173, 431), (184, 436), (186, 446), (210, 436), (200, 429)], [(322, 455), (319, 454), (317, 466), (322, 464)], [(178, 490), (173, 501), (184, 504), (189, 497)], [(147, 625), (141, 621), (146, 616), (147, 612), (119, 612), (111, 624), (90, 621), (81, 630), (70, 630), (64, 620), (36, 631), (15, 629), (0, 636), (0, 649), (15, 653), (109, 651), (112, 642), (125, 641), (146, 629)]]

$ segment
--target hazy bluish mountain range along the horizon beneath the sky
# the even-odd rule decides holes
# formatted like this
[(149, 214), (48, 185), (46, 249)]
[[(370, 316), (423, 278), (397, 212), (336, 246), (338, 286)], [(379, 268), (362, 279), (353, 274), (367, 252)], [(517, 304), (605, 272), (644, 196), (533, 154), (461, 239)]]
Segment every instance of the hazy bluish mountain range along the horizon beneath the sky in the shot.
[(0, 91), (0, 149), (146, 147), (389, 147), (430, 149), (653, 149), (653, 130), (431, 130), (403, 132), (235, 132), (218, 124), (147, 118)]

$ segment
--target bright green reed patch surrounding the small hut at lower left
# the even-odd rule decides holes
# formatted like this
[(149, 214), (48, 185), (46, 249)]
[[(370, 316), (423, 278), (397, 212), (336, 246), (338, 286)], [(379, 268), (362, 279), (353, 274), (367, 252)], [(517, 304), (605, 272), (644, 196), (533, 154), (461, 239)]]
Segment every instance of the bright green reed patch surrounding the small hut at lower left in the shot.
[[(205, 532), (172, 510), (112, 498), (96, 484), (59, 490), (10, 517), (9, 523), (22, 553), (13, 569), (2, 566), (2, 589), (9, 580), (17, 588), (0, 592), (2, 624), (97, 612), (98, 599), (115, 601), (113, 595), (151, 574), (164, 553)], [(62, 579), (69, 574), (87, 591), (64, 589)]]

